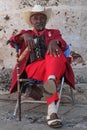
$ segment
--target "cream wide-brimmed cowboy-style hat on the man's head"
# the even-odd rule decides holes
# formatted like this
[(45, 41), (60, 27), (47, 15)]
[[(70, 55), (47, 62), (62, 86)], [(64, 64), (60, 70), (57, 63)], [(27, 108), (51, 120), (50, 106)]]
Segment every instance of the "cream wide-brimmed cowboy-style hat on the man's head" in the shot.
[(41, 5), (35, 5), (31, 10), (28, 10), (24, 13), (24, 17), (25, 17), (25, 20), (26, 22), (32, 26), (31, 22), (30, 22), (30, 17), (34, 14), (38, 14), (38, 13), (41, 13), (41, 14), (44, 14), (47, 16), (47, 22), (51, 16), (51, 8), (48, 8), (48, 9), (45, 9), (44, 7), (42, 7)]

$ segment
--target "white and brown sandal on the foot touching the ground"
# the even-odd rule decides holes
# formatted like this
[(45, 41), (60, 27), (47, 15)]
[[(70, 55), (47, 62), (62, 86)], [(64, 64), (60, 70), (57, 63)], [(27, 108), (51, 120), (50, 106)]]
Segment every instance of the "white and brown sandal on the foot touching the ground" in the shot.
[(60, 128), (63, 125), (61, 119), (58, 118), (56, 113), (47, 116), (47, 124), (52, 128)]

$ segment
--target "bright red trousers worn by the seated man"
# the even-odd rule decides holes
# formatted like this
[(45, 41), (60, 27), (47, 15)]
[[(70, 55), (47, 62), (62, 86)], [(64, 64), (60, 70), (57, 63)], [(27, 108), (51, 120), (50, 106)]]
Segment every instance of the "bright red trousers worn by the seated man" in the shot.
[[(66, 58), (61, 53), (60, 56), (54, 57), (46, 54), (45, 59), (38, 59), (37, 61), (29, 64), (26, 67), (26, 73), (28, 78), (41, 80), (44, 83), (47, 81), (50, 75), (55, 75), (56, 83), (58, 84), (60, 78), (63, 76), (66, 69)], [(57, 93), (52, 97), (47, 98), (47, 103), (50, 104), (53, 101), (58, 100)]]

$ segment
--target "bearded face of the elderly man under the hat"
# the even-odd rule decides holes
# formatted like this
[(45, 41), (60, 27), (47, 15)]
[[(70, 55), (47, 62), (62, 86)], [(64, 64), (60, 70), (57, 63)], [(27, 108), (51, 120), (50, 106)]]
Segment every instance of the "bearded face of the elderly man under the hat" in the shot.
[(44, 14), (34, 14), (30, 17), (31, 24), (37, 31), (45, 28), (47, 17)]

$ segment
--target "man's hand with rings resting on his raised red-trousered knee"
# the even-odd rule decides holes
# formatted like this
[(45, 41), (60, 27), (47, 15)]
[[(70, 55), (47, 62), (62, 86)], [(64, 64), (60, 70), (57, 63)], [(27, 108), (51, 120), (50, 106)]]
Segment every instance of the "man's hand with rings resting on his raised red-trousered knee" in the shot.
[(60, 51), (59, 51), (58, 41), (57, 40), (52, 40), (49, 43), (47, 53), (50, 54), (50, 55), (54, 54), (54, 56), (59, 56), (60, 55)]

